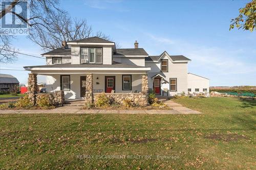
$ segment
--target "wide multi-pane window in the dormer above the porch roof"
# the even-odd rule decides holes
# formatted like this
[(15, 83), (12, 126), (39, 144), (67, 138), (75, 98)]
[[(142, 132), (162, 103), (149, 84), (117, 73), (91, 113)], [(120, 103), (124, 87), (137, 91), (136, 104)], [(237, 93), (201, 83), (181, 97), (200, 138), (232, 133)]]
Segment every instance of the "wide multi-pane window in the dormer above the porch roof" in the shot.
[(81, 63), (102, 64), (102, 48), (101, 47), (82, 47)]

